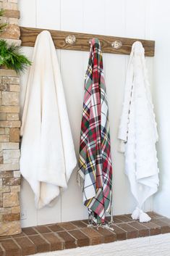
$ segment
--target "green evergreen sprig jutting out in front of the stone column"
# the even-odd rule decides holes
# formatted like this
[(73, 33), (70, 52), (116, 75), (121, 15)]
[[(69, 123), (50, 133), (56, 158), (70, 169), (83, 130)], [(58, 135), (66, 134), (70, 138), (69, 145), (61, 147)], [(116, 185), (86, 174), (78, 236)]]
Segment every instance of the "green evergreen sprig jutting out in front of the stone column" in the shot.
[(30, 60), (21, 53), (20, 46), (8, 46), (7, 41), (0, 40), (0, 66), (5, 66), (20, 74), (30, 65)]

